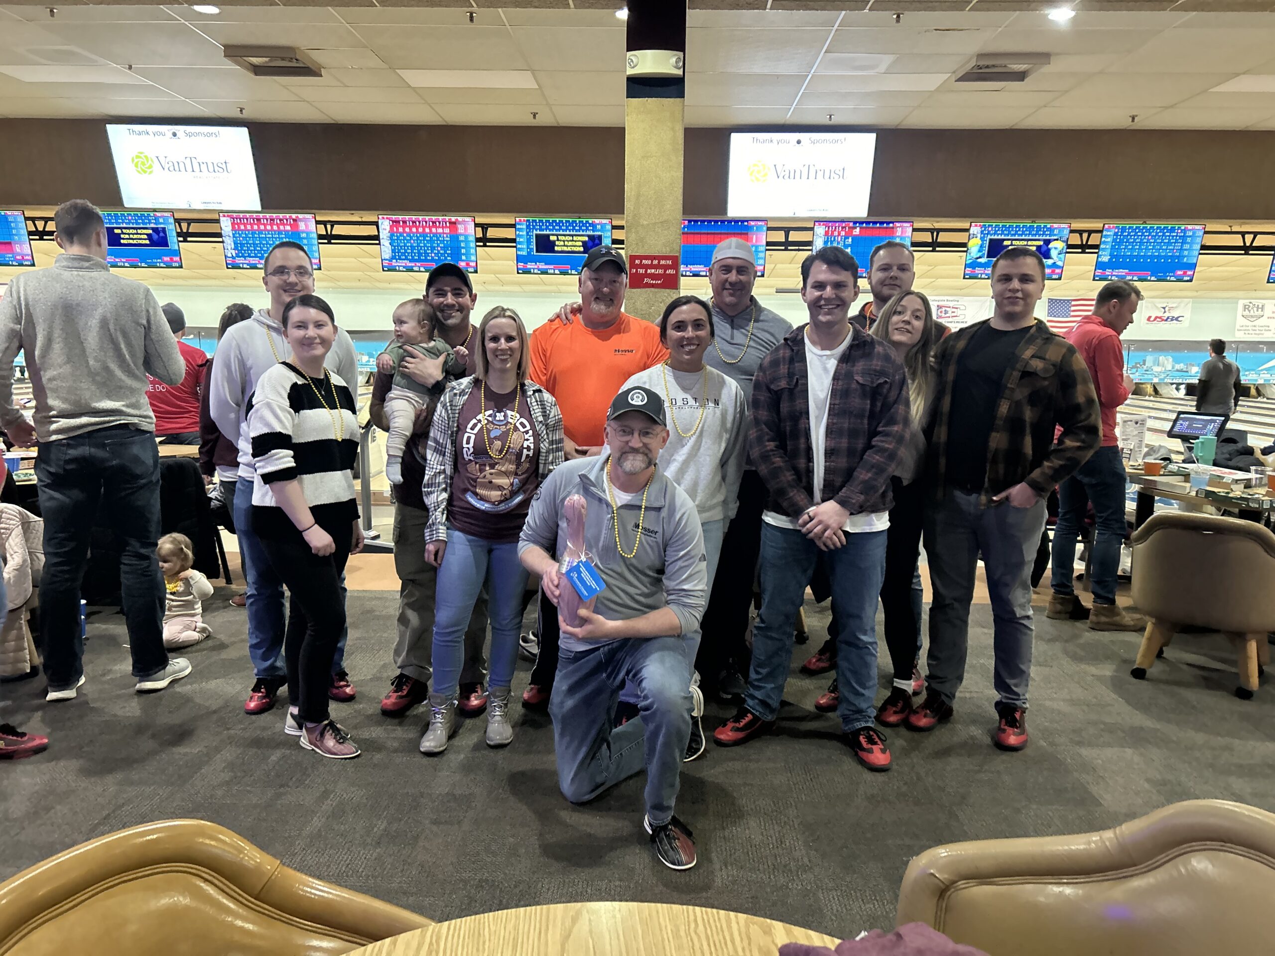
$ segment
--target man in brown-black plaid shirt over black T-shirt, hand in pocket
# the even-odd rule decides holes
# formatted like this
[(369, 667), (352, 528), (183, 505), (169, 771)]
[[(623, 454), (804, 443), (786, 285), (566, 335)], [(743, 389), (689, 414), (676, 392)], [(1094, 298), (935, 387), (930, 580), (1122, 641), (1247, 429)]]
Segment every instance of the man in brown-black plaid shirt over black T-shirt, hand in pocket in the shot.
[(1102, 441), (1085, 361), (1034, 315), (1043, 292), (1044, 260), (1034, 249), (1011, 246), (992, 264), (992, 317), (952, 333), (935, 351), (935, 502), (926, 514), (929, 690), (908, 728), (932, 730), (952, 715), (982, 552), (994, 634), (994, 743), (1006, 751), (1028, 744), (1030, 577), (1044, 500)]

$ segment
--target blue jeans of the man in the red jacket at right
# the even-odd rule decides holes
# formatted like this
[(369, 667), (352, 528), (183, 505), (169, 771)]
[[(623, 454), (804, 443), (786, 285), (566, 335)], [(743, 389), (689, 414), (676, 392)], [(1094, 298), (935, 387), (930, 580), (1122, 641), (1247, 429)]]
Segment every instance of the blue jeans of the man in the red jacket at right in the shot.
[(1114, 445), (1098, 449), (1076, 473), (1058, 486), (1058, 524), (1053, 529), (1054, 594), (1075, 594), (1076, 535), (1094, 505), (1094, 547), (1089, 584), (1095, 604), (1116, 603), (1119, 547), (1125, 542), (1125, 460)]

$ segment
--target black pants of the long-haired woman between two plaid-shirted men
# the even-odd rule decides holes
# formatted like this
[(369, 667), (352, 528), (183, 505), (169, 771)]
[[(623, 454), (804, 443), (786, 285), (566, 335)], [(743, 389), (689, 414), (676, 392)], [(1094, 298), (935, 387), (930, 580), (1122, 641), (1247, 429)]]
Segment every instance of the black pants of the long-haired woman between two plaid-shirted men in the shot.
[(917, 663), (917, 634), (921, 619), (912, 584), (921, 557), (921, 530), (924, 524), (926, 492), (922, 482), (894, 484), (894, 507), (885, 543), (885, 579), (881, 581), (881, 609), (885, 612), (885, 642), (890, 649), (894, 679), (912, 684)]

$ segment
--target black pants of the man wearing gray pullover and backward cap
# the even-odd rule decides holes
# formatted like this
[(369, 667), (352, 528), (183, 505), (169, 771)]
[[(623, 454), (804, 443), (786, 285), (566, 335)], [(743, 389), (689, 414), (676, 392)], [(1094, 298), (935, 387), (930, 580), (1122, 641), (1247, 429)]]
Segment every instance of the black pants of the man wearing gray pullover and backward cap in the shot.
[(751, 654), (745, 636), (752, 613), (752, 581), (761, 556), (761, 512), (766, 507), (766, 486), (748, 469), (740, 482), (740, 510), (722, 538), (718, 570), (709, 583), (709, 604), (700, 623), (700, 650), (695, 669), (705, 684), (715, 684), (718, 674), (734, 668), (748, 673)]

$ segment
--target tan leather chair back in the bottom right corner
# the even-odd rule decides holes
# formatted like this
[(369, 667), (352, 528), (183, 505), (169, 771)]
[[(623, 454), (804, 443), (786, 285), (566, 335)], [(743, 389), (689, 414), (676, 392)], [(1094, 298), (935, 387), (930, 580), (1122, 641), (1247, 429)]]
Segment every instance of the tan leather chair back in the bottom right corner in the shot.
[(1271, 899), (1275, 815), (1188, 800), (1096, 834), (926, 850), (896, 923), (988, 956), (1269, 953)]

